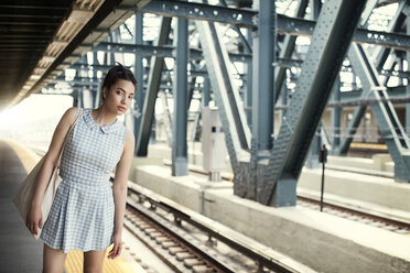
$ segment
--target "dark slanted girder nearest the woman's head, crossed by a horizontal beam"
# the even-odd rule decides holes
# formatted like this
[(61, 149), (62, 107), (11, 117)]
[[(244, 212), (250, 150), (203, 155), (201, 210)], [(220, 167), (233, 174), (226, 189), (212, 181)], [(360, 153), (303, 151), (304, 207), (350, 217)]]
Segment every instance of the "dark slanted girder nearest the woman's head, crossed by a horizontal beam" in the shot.
[[(168, 43), (171, 30), (171, 18), (163, 18), (160, 28), (160, 35), (157, 45), (162, 46)], [(152, 120), (154, 114), (157, 95), (160, 89), (161, 74), (163, 68), (163, 57), (151, 57), (151, 70), (148, 77), (148, 89), (143, 101), (140, 131), (137, 138), (137, 155), (147, 156), (148, 143), (151, 134)]]

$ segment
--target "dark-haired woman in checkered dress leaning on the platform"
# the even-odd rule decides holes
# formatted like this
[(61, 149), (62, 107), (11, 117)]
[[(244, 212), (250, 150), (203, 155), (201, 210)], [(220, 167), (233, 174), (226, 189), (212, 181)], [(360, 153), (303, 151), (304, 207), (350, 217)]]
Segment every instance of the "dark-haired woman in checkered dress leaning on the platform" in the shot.
[[(131, 70), (118, 64), (104, 79), (102, 105), (82, 112), (73, 107), (57, 124), (26, 218), (26, 227), (32, 233), (42, 229), (43, 273), (63, 272), (66, 253), (73, 249), (84, 251), (84, 272), (102, 272), (105, 253), (111, 243), (114, 248), (108, 258), (115, 259), (121, 253), (127, 179), (134, 138), (117, 116), (130, 107), (136, 88), (137, 80)], [(77, 114), (82, 117), (68, 133)], [(66, 136), (60, 170), (63, 182), (42, 227), (40, 204)], [(108, 179), (115, 167), (111, 188)]]

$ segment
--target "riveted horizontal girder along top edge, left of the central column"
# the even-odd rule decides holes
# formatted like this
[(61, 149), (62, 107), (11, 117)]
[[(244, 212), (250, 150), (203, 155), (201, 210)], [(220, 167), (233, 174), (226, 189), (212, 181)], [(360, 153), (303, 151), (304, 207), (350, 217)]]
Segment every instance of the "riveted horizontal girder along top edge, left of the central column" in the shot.
[(256, 26), (253, 23), (253, 15), (257, 14), (257, 12), (246, 9), (233, 9), (214, 4), (170, 0), (151, 1), (142, 9), (138, 9), (136, 7), (120, 7), (120, 9), (134, 10), (143, 13), (153, 13), (162, 17), (177, 17), (211, 22), (230, 23), (246, 28)]

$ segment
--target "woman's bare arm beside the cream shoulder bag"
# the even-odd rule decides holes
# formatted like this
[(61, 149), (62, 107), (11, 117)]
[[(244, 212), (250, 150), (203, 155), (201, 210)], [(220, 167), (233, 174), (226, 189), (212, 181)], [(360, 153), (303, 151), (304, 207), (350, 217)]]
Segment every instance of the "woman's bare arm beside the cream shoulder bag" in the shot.
[(65, 136), (75, 121), (77, 108), (69, 108), (60, 120), (54, 130), (47, 153), (45, 154), (44, 163), (39, 172), (35, 192), (31, 203), (31, 210), (26, 217), (25, 226), (33, 233), (37, 233), (37, 227), (42, 228), (43, 219), (41, 214), (41, 201), (43, 200), (44, 192), (51, 178), (54, 167), (57, 165), (60, 152), (63, 149)]

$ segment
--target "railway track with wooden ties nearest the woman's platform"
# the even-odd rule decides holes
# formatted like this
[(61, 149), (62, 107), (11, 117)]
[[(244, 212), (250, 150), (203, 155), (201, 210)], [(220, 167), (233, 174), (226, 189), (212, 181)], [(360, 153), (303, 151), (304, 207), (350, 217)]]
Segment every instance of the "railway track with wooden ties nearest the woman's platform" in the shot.
[(288, 265), (289, 258), (132, 182), (129, 190), (125, 226), (175, 272), (305, 272)]

